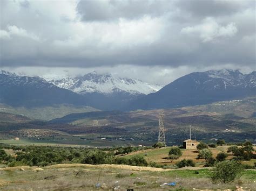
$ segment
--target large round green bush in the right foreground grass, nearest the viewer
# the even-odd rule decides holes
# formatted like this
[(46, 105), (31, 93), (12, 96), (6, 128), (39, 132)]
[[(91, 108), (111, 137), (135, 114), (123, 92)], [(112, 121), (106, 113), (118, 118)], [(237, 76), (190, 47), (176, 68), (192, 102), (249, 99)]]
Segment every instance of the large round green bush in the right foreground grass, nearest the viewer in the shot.
[(242, 172), (242, 165), (235, 161), (225, 160), (218, 162), (213, 168), (213, 182), (233, 182), (235, 178)]

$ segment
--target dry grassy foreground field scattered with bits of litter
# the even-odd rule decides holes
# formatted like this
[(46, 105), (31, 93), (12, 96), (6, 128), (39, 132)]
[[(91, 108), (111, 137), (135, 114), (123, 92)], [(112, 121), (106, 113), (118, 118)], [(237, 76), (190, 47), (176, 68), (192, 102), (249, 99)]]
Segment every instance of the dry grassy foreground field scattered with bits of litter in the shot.
[[(247, 189), (256, 187), (255, 171), (245, 171), (233, 183), (211, 182), (211, 170), (172, 170), (166, 172), (136, 171), (116, 167), (45, 167), (40, 170), (25, 168), (0, 169), (1, 190), (193, 190), (193, 189)], [(197, 172), (197, 173), (196, 173)], [(176, 186), (160, 186), (176, 182)]]

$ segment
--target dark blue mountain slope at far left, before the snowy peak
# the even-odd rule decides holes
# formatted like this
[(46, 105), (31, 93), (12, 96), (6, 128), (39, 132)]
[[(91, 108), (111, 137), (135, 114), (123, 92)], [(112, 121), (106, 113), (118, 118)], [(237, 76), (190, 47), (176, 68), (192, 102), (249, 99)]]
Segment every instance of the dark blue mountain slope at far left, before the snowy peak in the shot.
[(0, 71), (0, 103), (15, 107), (87, 104), (84, 96), (59, 88), (41, 77), (21, 76), (4, 70)]

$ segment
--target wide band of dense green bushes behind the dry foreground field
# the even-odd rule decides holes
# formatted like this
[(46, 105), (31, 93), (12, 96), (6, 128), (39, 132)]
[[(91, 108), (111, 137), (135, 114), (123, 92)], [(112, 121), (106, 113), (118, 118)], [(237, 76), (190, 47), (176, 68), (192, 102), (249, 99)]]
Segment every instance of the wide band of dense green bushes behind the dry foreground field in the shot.
[[(2, 148), (12, 149), (16, 157), (0, 150), (0, 159), (8, 166), (48, 166), (55, 164), (125, 164), (133, 166), (147, 166), (146, 160), (141, 156), (130, 159), (115, 157), (116, 147), (112, 148), (70, 148), (50, 146), (8, 146)], [(0, 147), (0, 148), (1, 148)], [(139, 147), (134, 148), (138, 150)], [(125, 150), (125, 148), (124, 148)]]

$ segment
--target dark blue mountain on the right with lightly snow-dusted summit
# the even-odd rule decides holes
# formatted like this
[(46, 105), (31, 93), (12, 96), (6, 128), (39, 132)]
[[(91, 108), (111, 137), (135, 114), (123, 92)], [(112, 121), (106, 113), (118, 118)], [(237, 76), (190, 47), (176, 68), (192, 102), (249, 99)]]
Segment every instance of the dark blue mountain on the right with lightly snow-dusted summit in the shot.
[(127, 106), (127, 110), (178, 108), (256, 96), (256, 72), (239, 70), (195, 72), (173, 81), (157, 93), (143, 96)]

